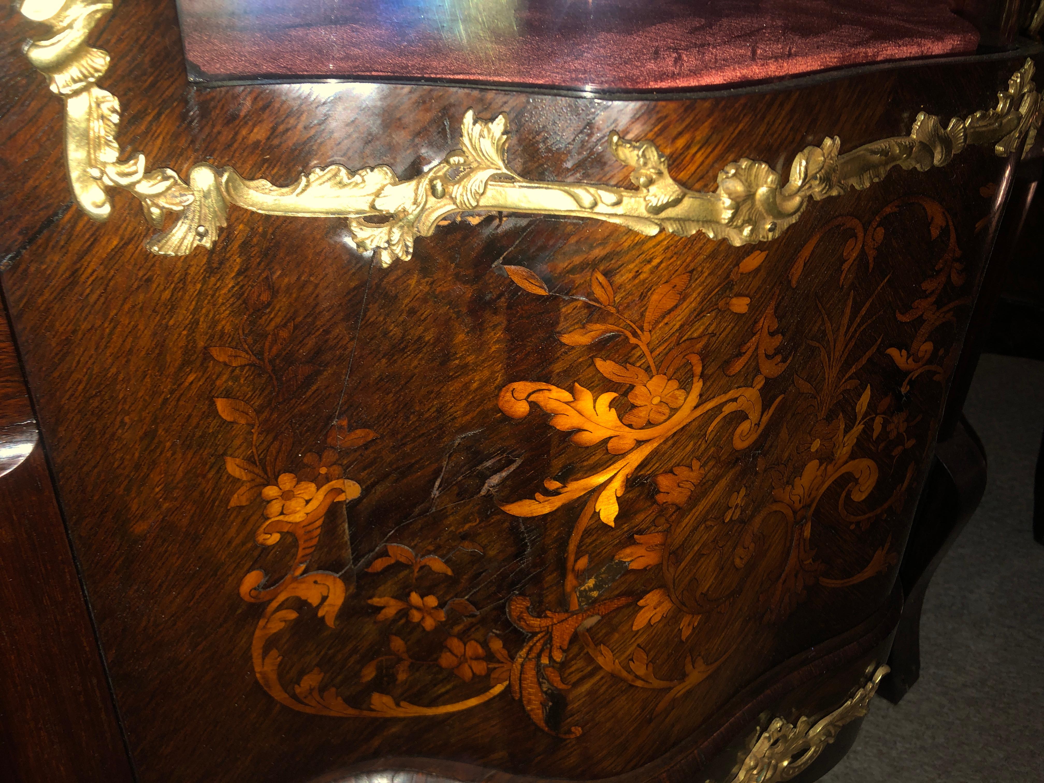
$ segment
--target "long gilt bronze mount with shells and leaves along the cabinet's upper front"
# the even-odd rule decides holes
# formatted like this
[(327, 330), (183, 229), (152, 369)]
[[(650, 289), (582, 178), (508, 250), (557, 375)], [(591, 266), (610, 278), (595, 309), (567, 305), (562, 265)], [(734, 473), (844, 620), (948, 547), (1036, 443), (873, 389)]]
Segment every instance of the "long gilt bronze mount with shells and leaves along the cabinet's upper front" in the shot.
[[(430, 236), (441, 220), (460, 212), (515, 212), (594, 218), (646, 235), (704, 232), (742, 245), (775, 239), (793, 223), (809, 198), (840, 195), (879, 182), (891, 168), (925, 171), (945, 166), (969, 144), (993, 144), (1011, 155), (1040, 125), (1040, 95), (1034, 64), (1025, 65), (998, 93), (995, 109), (954, 118), (944, 128), (921, 113), (908, 136), (898, 136), (840, 152), (837, 137), (806, 147), (790, 176), (764, 162), (741, 158), (718, 172), (717, 190), (693, 191), (670, 176), (667, 158), (648, 140), (610, 134), (613, 155), (632, 168), (635, 188), (567, 182), (535, 182), (506, 163), (507, 119), (478, 119), (470, 110), (460, 127), (460, 147), (412, 180), (400, 181), (387, 166), (352, 171), (341, 165), (315, 168), (288, 187), (244, 180), (235, 169), (197, 163), (186, 184), (169, 168), (148, 170), (141, 153), (121, 161), (116, 141), (119, 100), (96, 86), (109, 54), (87, 44), (111, 0), (25, 0), (22, 14), (48, 25), (52, 34), (29, 41), (25, 54), (65, 101), (65, 152), (69, 181), (79, 207), (105, 220), (108, 190), (136, 195), (146, 218), (160, 230), (149, 239), (152, 253), (184, 256), (210, 247), (228, 219), (229, 205), (270, 215), (342, 217), (360, 251), (374, 251), (384, 266), (409, 259), (419, 236)], [(174, 216), (169, 228), (167, 214)]]

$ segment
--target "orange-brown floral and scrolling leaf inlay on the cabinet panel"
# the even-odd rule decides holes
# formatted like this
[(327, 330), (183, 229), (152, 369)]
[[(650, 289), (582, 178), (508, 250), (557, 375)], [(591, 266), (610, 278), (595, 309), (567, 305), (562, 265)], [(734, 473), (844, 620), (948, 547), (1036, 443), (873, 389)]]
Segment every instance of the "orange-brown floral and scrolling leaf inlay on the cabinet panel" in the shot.
[[(918, 211), (927, 218), (931, 246), (940, 248), (920, 285), (927, 295), (882, 314), (880, 301), (893, 271), (881, 268), (880, 262), (875, 268), (875, 261), (885, 242), (884, 227), (891, 224), (886, 218), (902, 214), (916, 220)], [(812, 265), (829, 263), (829, 252), (817, 252), (817, 245), (831, 232), (850, 235), (844, 263), (825, 278), (837, 289), (832, 300), (836, 304), (828, 309), (813, 292), (814, 326), (794, 339), (780, 313), (792, 311), (793, 298), (803, 294), (805, 281), (813, 276)], [(228, 472), (246, 482), (234, 504), (250, 505), (259, 498), (257, 513), (264, 520), (258, 528), (259, 544), (271, 546), (289, 535), (298, 546), (294, 565), (282, 579), (272, 584), (264, 572), (252, 571), (240, 588), (245, 600), (268, 604), (254, 639), (259, 682), (295, 710), (346, 717), (459, 712), (477, 708), (507, 687), (536, 728), (582, 741), (582, 726), (552, 726), (548, 718), (552, 705), (568, 704), (572, 684), (562, 671), (567, 659), (586, 654), (595, 667), (588, 677), (601, 670), (632, 687), (663, 691), (659, 714), (739, 649), (741, 637), (708, 656), (704, 644), (714, 631), (705, 628), (720, 626), (722, 618), (738, 614), (757, 618), (761, 625), (778, 625), (812, 590), (844, 590), (894, 577), (898, 554), (893, 540), (901, 535), (896, 514), (907, 501), (923, 461), (924, 446), (917, 446), (930, 442), (929, 422), (923, 414), (911, 418), (903, 396), (909, 398), (914, 384), (938, 388), (945, 380), (948, 354), (930, 338), (941, 326), (953, 323), (969, 302), (960, 295), (967, 281), (956, 261), (955, 236), (945, 209), (918, 196), (886, 205), (869, 228), (853, 216), (832, 220), (790, 264), (779, 253), (748, 255), (710, 290), (699, 278), (703, 272), (693, 268), (662, 282), (651, 280), (647, 293), (636, 298), (614, 283), (612, 272), (595, 268), (577, 292), (552, 294), (528, 269), (507, 268), (508, 280), (523, 295), (559, 299), (587, 309), (586, 317), (554, 336), (567, 351), (586, 354), (600, 380), (594, 388), (578, 380), (566, 386), (513, 381), (495, 400), (478, 403), (479, 409), (495, 418), (495, 402), (509, 419), (522, 420), (536, 406), (571, 448), (600, 450), (604, 458), (583, 460), (589, 467), (574, 469), (571, 475), (544, 478), (531, 499), (496, 496), (508, 517), (574, 515), (563, 551), (562, 608), (535, 611), (529, 598), (515, 595), (500, 610), (522, 634), (514, 654), (494, 635), (496, 625), (482, 619), (490, 608), (473, 606), (455, 587), (467, 576), (457, 570), (481, 562), (480, 545), (462, 541), (440, 551), (422, 542), (389, 541), (366, 562), (363, 574), (406, 589), (389, 592), (378, 582), (369, 595), (360, 596), (377, 610), (369, 621), (395, 633), (386, 642), (392, 655), (378, 655), (362, 666), (357, 681), (376, 682), (385, 670), (394, 671), (397, 685), (418, 677), (427, 681), (425, 672), (440, 670), (461, 687), (485, 681), (484, 692), (465, 692), (456, 701), (422, 706), (374, 691), (369, 708), (352, 707), (336, 689), (321, 691), (327, 674), (319, 669), (292, 691), (285, 689), (282, 659), (272, 644), (300, 612), (279, 608), (303, 598), (334, 627), (352, 591), (338, 575), (313, 570), (310, 560), (331, 504), (350, 502), (362, 491), (345, 477), (341, 466), (349, 451), (366, 447), (367, 458), (379, 459), (381, 442), (374, 441), (372, 430), (351, 429), (341, 419), (325, 435), (331, 447), (304, 453), (295, 472), (280, 472), (293, 452), (291, 435), (275, 440), (262, 460), (258, 443), (263, 417), (241, 400), (216, 400), (221, 418), (248, 426), (253, 433), (253, 460), (226, 458)], [(867, 237), (872, 243), (864, 247)], [(863, 266), (853, 266), (860, 254)], [(777, 272), (782, 278), (773, 285)], [(762, 292), (766, 285), (770, 290)], [(251, 295), (247, 309), (253, 308)], [(871, 329), (882, 317), (891, 317), (897, 328)], [(244, 337), (242, 354), (247, 358), (242, 361), (230, 361), (232, 349), (210, 353), (232, 366), (256, 365), (250, 357), (263, 356), (263, 375), (278, 397), (276, 374), (263, 363), (278, 353), (270, 343), (291, 338), (289, 329), (280, 329), (269, 333), (266, 348), (257, 353)], [(730, 332), (740, 335), (740, 341), (730, 346), (715, 339)], [(889, 382), (885, 393), (877, 379), (889, 366), (903, 375)], [(649, 473), (646, 466), (663, 465), (659, 451), (674, 454), (679, 448), (686, 461)], [(647, 489), (638, 489), (638, 481)], [(628, 497), (634, 500), (624, 515), (620, 504)], [(609, 528), (623, 525), (630, 543), (606, 551), (595, 544), (600, 536), (592, 526), (595, 521)], [(858, 546), (868, 552), (867, 562), (838, 573), (840, 564), (831, 562), (821, 544), (828, 530), (834, 538), (864, 540)], [(454, 560), (464, 554), (472, 556)], [(356, 590), (361, 589), (360, 583)], [(617, 616), (622, 618), (615, 623), (620, 638), (613, 640), (619, 643), (627, 634), (635, 635), (632, 650), (622, 659), (607, 643), (609, 638), (599, 642), (592, 634), (596, 625)], [(460, 624), (471, 617), (477, 619)], [(407, 651), (397, 634), (410, 625), (435, 637), (438, 647), (430, 657)], [(660, 627), (671, 633), (642, 641), (644, 634)], [(476, 628), (485, 635), (484, 646), (481, 636), (474, 637)]]

